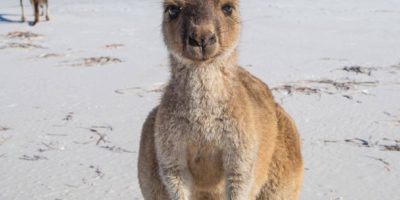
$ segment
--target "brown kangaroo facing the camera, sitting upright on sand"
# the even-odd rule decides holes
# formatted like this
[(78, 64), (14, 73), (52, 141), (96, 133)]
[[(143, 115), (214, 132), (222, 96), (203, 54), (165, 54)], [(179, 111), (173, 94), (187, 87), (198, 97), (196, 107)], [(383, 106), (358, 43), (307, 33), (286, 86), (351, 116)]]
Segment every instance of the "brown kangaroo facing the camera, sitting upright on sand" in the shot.
[(294, 200), (296, 126), (237, 64), (238, 0), (164, 0), (171, 76), (148, 115), (138, 176), (146, 200)]

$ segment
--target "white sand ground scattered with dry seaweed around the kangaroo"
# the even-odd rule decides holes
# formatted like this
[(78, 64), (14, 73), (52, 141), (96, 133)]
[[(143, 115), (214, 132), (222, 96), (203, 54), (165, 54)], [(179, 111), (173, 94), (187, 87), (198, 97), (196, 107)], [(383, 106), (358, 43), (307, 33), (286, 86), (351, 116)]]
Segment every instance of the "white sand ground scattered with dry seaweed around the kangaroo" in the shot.
[[(0, 200), (142, 199), (140, 129), (168, 79), (161, 2), (51, 1), (35, 27), (0, 5)], [(242, 15), (240, 63), (303, 139), (301, 199), (399, 199), (400, 1), (242, 0)]]

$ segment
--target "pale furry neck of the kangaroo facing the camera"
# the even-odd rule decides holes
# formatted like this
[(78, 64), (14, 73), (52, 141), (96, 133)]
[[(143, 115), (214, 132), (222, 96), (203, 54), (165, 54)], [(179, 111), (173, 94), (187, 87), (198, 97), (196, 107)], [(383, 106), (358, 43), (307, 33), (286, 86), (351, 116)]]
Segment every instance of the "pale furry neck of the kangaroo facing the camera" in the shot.
[(170, 57), (170, 86), (175, 95), (192, 106), (218, 106), (232, 95), (236, 76), (236, 52), (212, 63), (184, 63)]

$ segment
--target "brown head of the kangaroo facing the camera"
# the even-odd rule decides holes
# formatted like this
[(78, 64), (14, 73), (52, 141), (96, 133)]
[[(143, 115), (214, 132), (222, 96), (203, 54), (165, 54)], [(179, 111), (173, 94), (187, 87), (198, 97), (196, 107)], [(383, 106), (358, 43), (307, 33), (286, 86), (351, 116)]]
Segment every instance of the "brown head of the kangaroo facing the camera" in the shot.
[(210, 62), (237, 47), (238, 0), (165, 0), (163, 18), (165, 43), (177, 59)]

